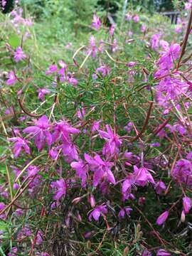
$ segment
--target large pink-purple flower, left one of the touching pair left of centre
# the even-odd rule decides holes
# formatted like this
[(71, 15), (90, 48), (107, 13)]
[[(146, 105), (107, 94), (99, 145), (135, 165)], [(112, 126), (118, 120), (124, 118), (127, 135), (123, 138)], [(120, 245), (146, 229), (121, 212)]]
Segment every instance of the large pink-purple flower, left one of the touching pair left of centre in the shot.
[(45, 144), (48, 146), (52, 144), (52, 135), (49, 132), (49, 123), (46, 115), (43, 115), (40, 119), (35, 120), (36, 126), (31, 126), (23, 129), (23, 132), (33, 134), (35, 137), (35, 144), (39, 151), (43, 149)]

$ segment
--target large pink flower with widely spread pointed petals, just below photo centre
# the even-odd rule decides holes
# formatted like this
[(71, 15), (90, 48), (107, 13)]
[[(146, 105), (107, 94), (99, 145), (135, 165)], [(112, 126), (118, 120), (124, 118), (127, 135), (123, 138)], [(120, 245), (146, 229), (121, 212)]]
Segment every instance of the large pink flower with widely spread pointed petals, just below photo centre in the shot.
[(111, 168), (114, 165), (112, 162), (103, 161), (98, 154), (94, 157), (84, 154), (85, 161), (90, 165), (93, 175), (93, 186), (97, 186), (102, 178), (107, 178), (111, 183), (115, 183), (114, 175), (112, 174)]

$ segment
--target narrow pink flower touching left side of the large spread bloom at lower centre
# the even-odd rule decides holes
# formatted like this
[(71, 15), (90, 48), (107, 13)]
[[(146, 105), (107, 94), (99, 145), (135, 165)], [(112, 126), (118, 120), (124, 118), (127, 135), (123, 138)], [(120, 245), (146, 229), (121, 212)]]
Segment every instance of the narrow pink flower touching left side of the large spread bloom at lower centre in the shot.
[(73, 161), (70, 164), (70, 166), (73, 169), (75, 169), (76, 175), (81, 179), (82, 187), (85, 187), (86, 181), (87, 181), (87, 172), (89, 170), (87, 163), (85, 163), (85, 161), (82, 161), (82, 159), (80, 159), (79, 161)]

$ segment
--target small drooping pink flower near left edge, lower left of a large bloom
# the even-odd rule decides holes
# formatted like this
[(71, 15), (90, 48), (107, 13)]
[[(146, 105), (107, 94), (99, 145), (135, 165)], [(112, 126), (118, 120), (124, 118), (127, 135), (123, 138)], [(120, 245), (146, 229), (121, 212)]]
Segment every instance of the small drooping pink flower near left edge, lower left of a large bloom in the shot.
[(25, 139), (20, 137), (10, 138), (9, 141), (14, 142), (14, 156), (17, 158), (22, 150), (26, 152), (26, 154), (30, 154), (30, 148)]

